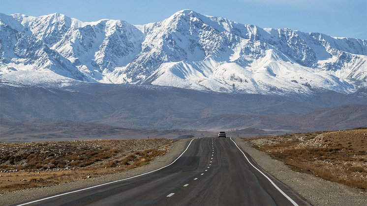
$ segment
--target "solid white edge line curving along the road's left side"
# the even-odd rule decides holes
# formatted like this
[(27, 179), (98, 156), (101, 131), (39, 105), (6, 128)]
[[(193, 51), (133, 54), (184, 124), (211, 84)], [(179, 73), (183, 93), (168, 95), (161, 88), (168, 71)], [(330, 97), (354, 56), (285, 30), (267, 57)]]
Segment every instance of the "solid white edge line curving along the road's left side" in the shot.
[[(197, 138), (194, 138), (194, 139), (197, 139)], [(190, 141), (190, 143), (187, 145), (186, 147), (186, 150), (183, 151), (183, 153), (185, 153), (188, 149), (188, 147), (191, 145), (191, 142), (194, 140), (192, 139)], [(104, 186), (104, 185), (107, 185), (107, 184), (112, 184), (112, 183), (115, 183), (115, 182), (119, 182), (119, 181), (123, 181), (123, 180), (130, 180), (130, 179), (133, 179), (133, 178), (137, 178), (137, 177), (140, 177), (140, 176), (143, 176), (143, 175), (147, 175), (147, 174), (150, 174), (150, 173), (153, 173), (153, 172), (156, 172), (158, 170), (161, 170), (163, 168), (166, 168), (170, 165), (172, 165), (173, 163), (175, 163), (182, 155), (183, 153), (177, 157), (175, 159), (175, 161), (171, 162), (170, 164), (166, 165), (166, 166), (163, 166), (161, 168), (158, 168), (156, 170), (153, 170), (153, 171), (150, 171), (150, 172), (147, 172), (147, 173), (143, 173), (143, 174), (140, 174), (140, 175), (136, 175), (136, 176), (133, 176), (133, 177), (129, 177), (129, 178), (125, 178), (125, 179), (122, 179), (122, 180), (116, 180), (116, 181), (110, 181), (110, 182), (107, 182), (107, 183), (104, 183), (104, 184), (98, 184), (98, 185), (95, 185), (95, 186), (92, 186), (92, 187), (88, 187), (88, 188), (84, 188), (84, 189), (79, 189), (79, 190), (75, 190), (75, 191), (71, 191), (71, 192), (66, 192), (66, 193), (62, 193), (62, 194), (59, 194), (59, 195), (55, 195), (55, 196), (51, 196), (51, 197), (47, 197), (47, 198), (43, 198), (43, 199), (40, 199), (40, 200), (35, 200), (35, 201), (32, 201), (32, 202), (29, 202), (29, 203), (24, 203), (24, 204), (21, 204), (21, 205), (18, 205), (18, 206), (25, 206), (25, 205), (29, 205), (29, 204), (32, 204), (32, 203), (37, 203), (37, 202), (41, 202), (41, 201), (44, 201), (44, 200), (48, 200), (48, 199), (52, 199), (52, 198), (56, 198), (56, 197), (60, 197), (60, 196), (63, 196), (63, 195), (68, 195), (68, 194), (72, 194), (72, 193), (76, 193), (76, 192), (80, 192), (80, 191), (84, 191), (84, 190), (88, 190), (88, 189), (92, 189), (92, 188), (95, 188), (95, 187), (100, 187), (100, 186)]]

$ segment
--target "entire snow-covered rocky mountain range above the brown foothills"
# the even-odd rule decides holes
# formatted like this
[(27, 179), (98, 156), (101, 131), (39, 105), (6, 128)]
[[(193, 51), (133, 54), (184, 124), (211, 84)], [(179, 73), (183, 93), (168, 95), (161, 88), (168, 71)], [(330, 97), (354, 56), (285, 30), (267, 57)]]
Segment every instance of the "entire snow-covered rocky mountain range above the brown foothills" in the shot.
[(367, 40), (242, 25), (192, 10), (139, 26), (0, 13), (0, 80), (350, 94), (367, 87)]

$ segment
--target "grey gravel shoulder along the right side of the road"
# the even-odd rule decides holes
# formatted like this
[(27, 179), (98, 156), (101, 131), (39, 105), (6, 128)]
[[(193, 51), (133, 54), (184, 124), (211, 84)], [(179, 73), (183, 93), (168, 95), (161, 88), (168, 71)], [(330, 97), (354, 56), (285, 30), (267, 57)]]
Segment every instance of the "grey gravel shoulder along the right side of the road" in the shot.
[(314, 206), (366, 206), (367, 196), (362, 190), (323, 180), (313, 175), (294, 172), (283, 162), (252, 148), (245, 140), (233, 138), (256, 163), (276, 179), (290, 186)]

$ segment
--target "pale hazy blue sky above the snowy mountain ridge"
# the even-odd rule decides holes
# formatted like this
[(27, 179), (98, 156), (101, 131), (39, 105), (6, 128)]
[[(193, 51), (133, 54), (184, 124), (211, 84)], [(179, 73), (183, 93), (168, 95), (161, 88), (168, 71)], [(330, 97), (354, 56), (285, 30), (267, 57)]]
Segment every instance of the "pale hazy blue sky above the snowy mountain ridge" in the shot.
[(183, 9), (262, 28), (367, 39), (367, 0), (0, 0), (0, 12), (7, 15), (58, 12), (83, 22), (120, 19), (133, 25)]

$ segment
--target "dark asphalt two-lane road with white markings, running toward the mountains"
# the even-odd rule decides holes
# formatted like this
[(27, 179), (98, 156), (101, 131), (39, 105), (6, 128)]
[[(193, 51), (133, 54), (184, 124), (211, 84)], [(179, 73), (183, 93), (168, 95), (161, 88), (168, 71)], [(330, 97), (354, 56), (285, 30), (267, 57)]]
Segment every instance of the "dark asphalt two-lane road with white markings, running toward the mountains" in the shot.
[(230, 138), (198, 138), (188, 144), (180, 158), (157, 171), (25, 205), (309, 205)]

